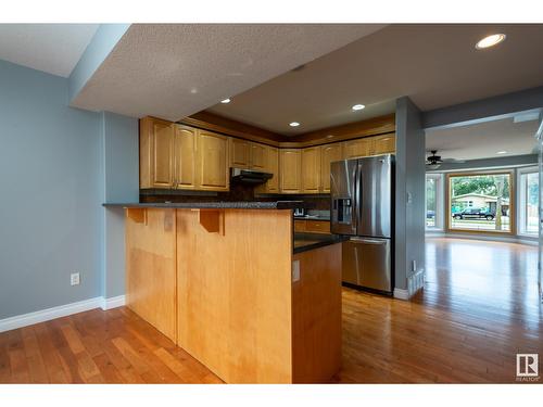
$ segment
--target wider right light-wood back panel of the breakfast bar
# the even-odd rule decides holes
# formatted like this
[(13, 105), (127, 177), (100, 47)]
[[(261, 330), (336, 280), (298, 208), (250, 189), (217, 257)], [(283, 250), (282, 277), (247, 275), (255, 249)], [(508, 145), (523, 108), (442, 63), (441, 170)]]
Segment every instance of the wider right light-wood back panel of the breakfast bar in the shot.
[(177, 209), (178, 345), (228, 383), (292, 381), (291, 211)]

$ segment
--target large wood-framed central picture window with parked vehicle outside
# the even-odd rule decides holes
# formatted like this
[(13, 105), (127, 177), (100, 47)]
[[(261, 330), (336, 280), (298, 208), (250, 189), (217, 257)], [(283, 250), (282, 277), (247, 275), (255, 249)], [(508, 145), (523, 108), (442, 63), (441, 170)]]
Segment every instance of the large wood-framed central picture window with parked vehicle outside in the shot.
[(512, 233), (512, 173), (449, 175), (450, 230)]

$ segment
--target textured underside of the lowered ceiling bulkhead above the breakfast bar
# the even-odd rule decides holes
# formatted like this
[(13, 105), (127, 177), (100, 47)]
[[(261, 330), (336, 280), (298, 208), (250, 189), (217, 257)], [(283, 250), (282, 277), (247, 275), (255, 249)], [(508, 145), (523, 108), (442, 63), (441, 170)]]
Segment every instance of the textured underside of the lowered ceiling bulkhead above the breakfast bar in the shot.
[(382, 25), (131, 25), (72, 105), (179, 119)]

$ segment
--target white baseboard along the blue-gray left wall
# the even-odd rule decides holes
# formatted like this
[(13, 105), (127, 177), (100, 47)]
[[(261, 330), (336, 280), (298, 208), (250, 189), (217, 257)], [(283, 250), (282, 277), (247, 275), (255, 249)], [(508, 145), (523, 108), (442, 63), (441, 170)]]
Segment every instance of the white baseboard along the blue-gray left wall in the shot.
[(125, 305), (125, 296), (118, 295), (111, 298), (97, 296), (94, 298), (79, 301), (77, 303), (59, 305), (56, 307), (40, 309), (34, 313), (16, 315), (14, 317), (0, 319), (0, 332), (12, 329), (28, 327), (30, 325), (49, 321), (55, 318), (83, 313), (89, 309), (102, 308), (104, 310)]

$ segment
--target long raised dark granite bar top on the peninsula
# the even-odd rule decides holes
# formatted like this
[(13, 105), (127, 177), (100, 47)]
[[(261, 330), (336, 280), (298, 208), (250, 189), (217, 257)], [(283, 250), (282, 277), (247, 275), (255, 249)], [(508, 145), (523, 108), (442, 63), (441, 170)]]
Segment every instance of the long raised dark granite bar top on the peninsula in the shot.
[(194, 209), (294, 209), (304, 207), (303, 201), (255, 201), (255, 202), (152, 202), (152, 203), (104, 203), (105, 207), (161, 207), (161, 208), (194, 208)]

